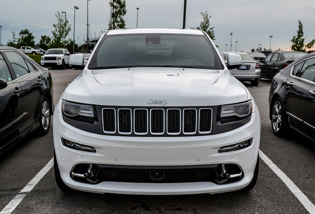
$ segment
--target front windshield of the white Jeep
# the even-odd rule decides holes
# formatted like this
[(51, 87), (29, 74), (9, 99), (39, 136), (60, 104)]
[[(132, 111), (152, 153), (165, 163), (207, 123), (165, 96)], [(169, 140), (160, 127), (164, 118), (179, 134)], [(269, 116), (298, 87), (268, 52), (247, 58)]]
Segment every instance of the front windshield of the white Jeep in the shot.
[(125, 34), (105, 36), (90, 69), (174, 66), (222, 69), (208, 37), (182, 34)]

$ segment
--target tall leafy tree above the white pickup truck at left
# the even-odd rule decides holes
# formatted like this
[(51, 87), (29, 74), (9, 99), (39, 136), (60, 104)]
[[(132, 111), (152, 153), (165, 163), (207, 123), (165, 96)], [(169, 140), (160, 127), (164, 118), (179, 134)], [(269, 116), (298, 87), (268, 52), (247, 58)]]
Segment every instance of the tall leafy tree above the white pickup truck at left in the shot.
[(57, 17), (57, 24), (53, 24), (52, 48), (64, 48), (71, 41), (71, 38), (66, 40), (71, 30), (71, 25), (67, 17), (63, 17), (63, 13), (57, 11), (55, 15)]

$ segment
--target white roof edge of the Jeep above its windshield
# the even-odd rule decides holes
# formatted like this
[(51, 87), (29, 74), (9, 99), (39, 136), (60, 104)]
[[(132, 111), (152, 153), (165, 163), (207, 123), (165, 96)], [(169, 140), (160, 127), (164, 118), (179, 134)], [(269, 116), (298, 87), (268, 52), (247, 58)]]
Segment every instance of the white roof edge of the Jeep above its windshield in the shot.
[(106, 35), (136, 34), (136, 33), (170, 33), (170, 34), (195, 34), (205, 35), (203, 31), (196, 29), (173, 29), (173, 28), (134, 28), (115, 29), (106, 32)]

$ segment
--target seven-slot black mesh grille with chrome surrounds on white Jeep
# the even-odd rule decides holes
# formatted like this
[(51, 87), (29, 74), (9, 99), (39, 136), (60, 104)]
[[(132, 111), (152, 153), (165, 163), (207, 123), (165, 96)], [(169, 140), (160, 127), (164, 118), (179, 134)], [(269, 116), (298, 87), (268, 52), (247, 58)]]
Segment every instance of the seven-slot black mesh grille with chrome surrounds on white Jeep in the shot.
[(116, 135), (210, 134), (211, 108), (103, 108), (103, 131)]

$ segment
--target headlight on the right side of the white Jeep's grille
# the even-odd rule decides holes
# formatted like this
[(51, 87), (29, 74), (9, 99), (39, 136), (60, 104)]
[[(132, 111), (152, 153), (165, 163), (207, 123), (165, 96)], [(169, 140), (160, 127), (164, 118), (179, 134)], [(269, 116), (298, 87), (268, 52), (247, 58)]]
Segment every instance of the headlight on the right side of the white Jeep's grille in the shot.
[(250, 116), (253, 111), (252, 101), (222, 106), (220, 109), (220, 122), (230, 122)]

